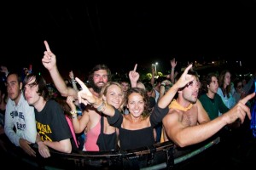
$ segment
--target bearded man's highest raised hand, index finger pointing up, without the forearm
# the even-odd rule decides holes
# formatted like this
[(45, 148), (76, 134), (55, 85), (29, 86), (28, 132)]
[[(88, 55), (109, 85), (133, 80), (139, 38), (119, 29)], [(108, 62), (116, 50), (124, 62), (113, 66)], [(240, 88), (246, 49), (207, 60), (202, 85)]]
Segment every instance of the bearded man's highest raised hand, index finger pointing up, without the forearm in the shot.
[(50, 51), (49, 44), (47, 41), (44, 41), (44, 45), (46, 51), (44, 51), (42, 63), (46, 69), (51, 70), (53, 67), (56, 66), (56, 56)]

